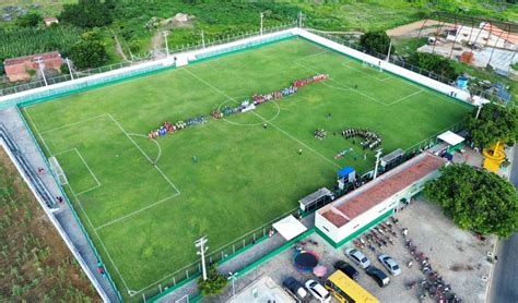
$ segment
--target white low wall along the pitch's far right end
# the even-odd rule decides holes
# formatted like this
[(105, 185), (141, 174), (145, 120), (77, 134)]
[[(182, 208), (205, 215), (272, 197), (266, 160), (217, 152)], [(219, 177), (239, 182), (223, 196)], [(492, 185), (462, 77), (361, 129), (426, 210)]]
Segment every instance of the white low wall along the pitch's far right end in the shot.
[(298, 36), (301, 36), (305, 39), (308, 39), (313, 43), (316, 43), (316, 44), (321, 45), (323, 47), (330, 48), (330, 49), (335, 50), (338, 52), (344, 53), (346, 56), (353, 57), (357, 60), (365, 61), (365, 62), (370, 63), (375, 66), (379, 65), (382, 70), (385, 70), (387, 72), (397, 74), (401, 77), (404, 77), (407, 80), (410, 80), (412, 82), (415, 82), (417, 84), (426, 86), (426, 87), (432, 88), (434, 90), (437, 90), (437, 92), (439, 92), (442, 94), (445, 94), (447, 96), (450, 96), (451, 93), (455, 93), (455, 94), (457, 94), (456, 97), (455, 97), (456, 99), (461, 100), (461, 101), (466, 101), (466, 102), (470, 102), (469, 101), (470, 100), (470, 94), (462, 90), (462, 89), (460, 89), (460, 88), (447, 85), (445, 83), (442, 83), (442, 82), (438, 82), (436, 80), (429, 78), (427, 76), (424, 76), (424, 75), (417, 74), (415, 72), (409, 71), (407, 69), (403, 69), (401, 66), (398, 66), (398, 65), (392, 64), (390, 62), (387, 62), (385, 60), (381, 60), (381, 59), (378, 59), (376, 57), (369, 56), (367, 53), (361, 52), (358, 50), (352, 49), (352, 48), (346, 47), (344, 45), (341, 45), (339, 43), (335, 43), (335, 41), (329, 40), (327, 38), (320, 37), (316, 34), (307, 32), (306, 29), (294, 28), (293, 32), (296, 35), (298, 35)]

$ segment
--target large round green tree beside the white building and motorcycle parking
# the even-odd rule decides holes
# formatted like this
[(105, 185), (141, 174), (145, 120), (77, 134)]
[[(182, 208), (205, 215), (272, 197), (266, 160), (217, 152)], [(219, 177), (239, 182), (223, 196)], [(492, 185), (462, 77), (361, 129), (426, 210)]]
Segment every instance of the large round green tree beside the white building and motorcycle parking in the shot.
[(461, 229), (508, 237), (518, 228), (518, 196), (504, 178), (467, 165), (442, 168), (442, 175), (425, 186)]

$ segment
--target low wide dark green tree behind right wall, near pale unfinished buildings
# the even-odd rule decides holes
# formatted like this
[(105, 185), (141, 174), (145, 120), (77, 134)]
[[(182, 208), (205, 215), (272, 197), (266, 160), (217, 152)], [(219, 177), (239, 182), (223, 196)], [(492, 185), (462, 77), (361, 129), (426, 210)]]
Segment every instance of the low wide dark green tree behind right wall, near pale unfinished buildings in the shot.
[(414, 52), (408, 58), (408, 61), (420, 69), (446, 78), (455, 80), (457, 77), (457, 72), (450, 61), (436, 53)]

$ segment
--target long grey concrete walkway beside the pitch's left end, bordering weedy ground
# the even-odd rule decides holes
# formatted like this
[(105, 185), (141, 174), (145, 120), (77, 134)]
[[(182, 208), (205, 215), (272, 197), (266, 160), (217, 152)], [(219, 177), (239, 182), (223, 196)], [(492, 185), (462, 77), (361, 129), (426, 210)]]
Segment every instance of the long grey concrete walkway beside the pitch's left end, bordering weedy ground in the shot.
[[(48, 171), (46, 162), (38, 152), (38, 147), (33, 141), (31, 134), (25, 128), (25, 124), (15, 108), (8, 108), (0, 110), (0, 122), (5, 126), (12, 138), (16, 142), (24, 156), (28, 159), (34, 169), (44, 168), (45, 172), (39, 177), (52, 197), (62, 196), (61, 191), (51, 173)], [(87, 267), (113, 302), (117, 302), (117, 295), (109, 284), (108, 280), (97, 270), (97, 257), (89, 244), (85, 234), (75, 220), (72, 209), (67, 203), (58, 204), (59, 209), (54, 211), (54, 216), (67, 232), (75, 250), (82, 256)]]

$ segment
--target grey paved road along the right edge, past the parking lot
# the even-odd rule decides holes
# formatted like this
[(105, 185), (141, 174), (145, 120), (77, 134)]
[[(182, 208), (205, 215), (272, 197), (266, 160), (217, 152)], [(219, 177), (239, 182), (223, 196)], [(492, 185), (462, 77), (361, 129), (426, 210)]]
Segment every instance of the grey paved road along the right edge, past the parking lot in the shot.
[[(510, 182), (518, 189), (518, 148), (515, 146)], [(496, 250), (498, 262), (491, 286), (491, 303), (518, 302), (518, 233), (501, 241)]]

